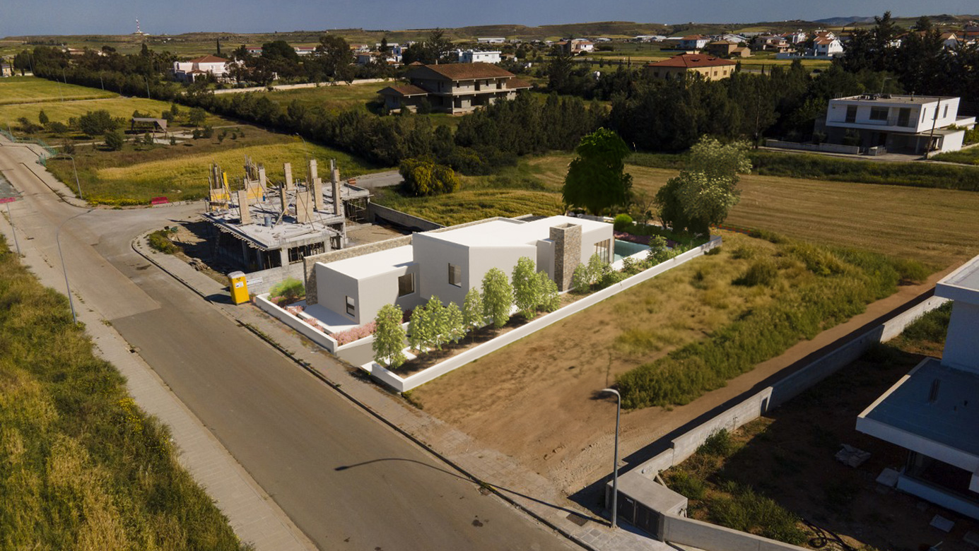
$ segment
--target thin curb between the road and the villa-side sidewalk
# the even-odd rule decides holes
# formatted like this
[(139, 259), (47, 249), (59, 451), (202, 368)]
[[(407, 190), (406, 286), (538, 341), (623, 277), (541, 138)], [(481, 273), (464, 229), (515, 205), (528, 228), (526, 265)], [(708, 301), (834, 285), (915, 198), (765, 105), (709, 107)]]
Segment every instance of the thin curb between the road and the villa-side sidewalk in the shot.
[[(140, 251), (139, 249), (136, 248), (136, 241), (137, 240), (140, 240), (140, 239), (144, 239), (150, 233), (152, 233), (152, 232), (146, 232), (146, 233), (138, 236), (136, 239), (132, 240), (132, 242), (130, 243), (130, 246), (132, 247), (132, 250), (135, 251), (136, 253), (138, 253), (140, 256), (142, 256), (142, 257), (146, 258), (147, 260), (149, 260), (151, 263), (153, 263), (155, 266), (157, 266), (161, 270), (163, 270), (163, 273), (169, 275), (173, 279), (175, 279), (178, 282), (180, 282), (184, 287), (186, 287), (187, 289), (190, 289), (191, 291), (193, 291), (198, 297), (204, 298), (208, 302), (213, 303), (213, 302), (211, 302), (211, 300), (209, 298), (207, 298), (207, 296), (205, 296), (203, 293), (201, 293), (200, 291), (198, 291), (197, 289), (195, 289), (190, 283), (188, 283), (187, 281), (185, 281), (180, 276), (174, 274), (170, 270), (167, 270), (165, 267), (163, 267), (162, 264), (160, 264), (159, 262), (157, 262), (155, 259), (151, 258), (150, 255), (148, 255), (146, 253), (143, 253), (142, 251)], [(266, 344), (269, 344), (270, 346), (272, 346), (273, 348), (275, 348), (276, 350), (278, 350), (279, 352), (281, 352), (282, 354), (284, 354), (286, 357), (288, 357), (289, 359), (291, 359), (294, 363), (296, 363), (297, 365), (299, 365), (300, 367), (302, 367), (303, 370), (305, 370), (307, 373), (309, 373), (310, 375), (312, 375), (313, 377), (315, 377), (319, 381), (325, 383), (331, 389), (336, 390), (336, 392), (339, 393), (340, 395), (342, 395), (345, 398), (349, 399), (350, 402), (352, 402), (353, 404), (355, 404), (357, 407), (359, 407), (360, 409), (366, 411), (371, 416), (373, 416), (377, 420), (381, 421), (382, 423), (384, 423), (385, 425), (387, 425), (388, 427), (390, 427), (391, 429), (393, 429), (397, 434), (408, 438), (413, 443), (415, 443), (416, 445), (420, 446), (422, 449), (425, 449), (426, 451), (428, 451), (429, 453), (431, 453), (435, 457), (439, 458), (441, 461), (443, 461), (443, 463), (445, 463), (446, 465), (448, 465), (451, 468), (455, 469), (459, 473), (462, 473), (468, 479), (472, 480), (473, 482), (478, 483), (480, 485), (480, 487), (489, 488), (489, 491), (491, 491), (494, 495), (496, 495), (497, 497), (499, 497), (503, 501), (505, 501), (505, 502), (509, 503), (510, 505), (514, 506), (515, 508), (517, 508), (518, 510), (522, 511), (523, 513), (525, 513), (526, 515), (530, 516), (531, 518), (535, 519), (538, 523), (544, 525), (545, 527), (548, 527), (548, 528), (553, 529), (554, 531), (556, 531), (559, 534), (563, 535), (568, 540), (570, 540), (570, 541), (572, 541), (572, 542), (574, 542), (574, 543), (582, 546), (584, 549), (588, 549), (589, 551), (599, 551), (598, 548), (593, 547), (593, 546), (591, 546), (591, 545), (583, 542), (582, 540), (576, 538), (575, 536), (573, 536), (571, 534), (571, 532), (569, 532), (569, 531), (567, 531), (567, 530), (565, 530), (563, 528), (560, 528), (560, 527), (554, 525), (550, 521), (548, 521), (548, 520), (544, 519), (543, 517), (537, 515), (534, 511), (531, 511), (530, 509), (527, 509), (526, 507), (524, 507), (520, 503), (517, 503), (514, 499), (510, 498), (509, 496), (507, 496), (506, 494), (504, 494), (500, 490), (496, 489), (496, 487), (493, 486), (492, 484), (490, 484), (489, 482), (485, 482), (482, 479), (480, 479), (479, 477), (476, 477), (475, 475), (473, 475), (469, 471), (463, 469), (461, 466), (459, 466), (458, 464), (456, 464), (454, 461), (450, 460), (449, 458), (445, 457), (443, 454), (439, 453), (437, 450), (435, 450), (432, 446), (430, 446), (426, 442), (420, 440), (419, 438), (417, 438), (416, 436), (412, 435), (411, 433), (409, 433), (409, 432), (401, 429), (394, 422), (388, 420), (383, 415), (381, 415), (380, 413), (378, 413), (377, 411), (375, 411), (373, 408), (371, 408), (370, 406), (368, 406), (364, 402), (358, 400), (356, 397), (354, 397), (353, 395), (351, 395), (350, 392), (348, 392), (346, 390), (343, 390), (341, 388), (342, 385), (339, 385), (337, 383), (334, 383), (333, 381), (330, 381), (325, 375), (323, 375), (322, 373), (320, 373), (319, 371), (317, 371), (315, 368), (313, 368), (311, 364), (309, 364), (309, 363), (303, 361), (302, 359), (294, 356), (293, 353), (291, 351), (285, 349), (282, 346), (282, 344), (276, 343), (271, 337), (269, 337), (268, 335), (265, 335), (260, 330), (258, 330), (256, 327), (252, 326), (251, 324), (248, 324), (248, 323), (245, 323), (245, 322), (239, 320), (238, 318), (234, 317), (231, 314), (228, 314), (227, 312), (225, 312), (221, 308), (218, 308), (218, 309), (220, 309), (222, 311), (222, 313), (224, 313), (225, 315), (227, 315), (228, 317), (230, 317), (231, 319), (233, 319), (235, 321), (235, 323), (238, 324), (239, 327), (244, 327), (246, 330), (248, 330), (252, 334), (254, 334), (257, 338), (261, 339)], [(345, 362), (344, 360), (340, 359), (339, 357), (337, 357), (337, 361), (340, 361), (342, 363), (347, 364), (347, 362)], [(350, 364), (347, 364), (347, 365), (350, 365)]]

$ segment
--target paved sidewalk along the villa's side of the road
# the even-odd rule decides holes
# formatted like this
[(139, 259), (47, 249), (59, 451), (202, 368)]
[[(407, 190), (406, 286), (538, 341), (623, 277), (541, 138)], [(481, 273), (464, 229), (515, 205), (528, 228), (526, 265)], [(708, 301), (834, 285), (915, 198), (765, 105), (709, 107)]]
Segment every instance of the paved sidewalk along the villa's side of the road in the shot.
[[(583, 547), (623, 551), (676, 549), (628, 527), (609, 528), (608, 521), (595, 517), (561, 495), (544, 477), (499, 451), (482, 447), (473, 437), (381, 390), (364, 379), (358, 369), (341, 362), (255, 305), (231, 304), (226, 286), (194, 270), (186, 262), (172, 255), (156, 253), (143, 238), (134, 242), (134, 249), (201, 297), (209, 298), (227, 316), (259, 332), (266, 341), (289, 353), (350, 400)], [(580, 526), (579, 523), (583, 524)]]

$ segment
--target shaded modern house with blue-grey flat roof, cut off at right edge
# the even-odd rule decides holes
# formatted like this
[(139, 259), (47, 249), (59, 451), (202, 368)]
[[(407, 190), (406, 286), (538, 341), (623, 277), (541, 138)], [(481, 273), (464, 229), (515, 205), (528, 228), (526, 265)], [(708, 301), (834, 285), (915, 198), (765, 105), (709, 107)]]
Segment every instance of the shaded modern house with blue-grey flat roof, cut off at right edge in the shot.
[(954, 301), (942, 359), (923, 359), (863, 410), (857, 430), (908, 450), (892, 485), (979, 520), (979, 256), (935, 296)]

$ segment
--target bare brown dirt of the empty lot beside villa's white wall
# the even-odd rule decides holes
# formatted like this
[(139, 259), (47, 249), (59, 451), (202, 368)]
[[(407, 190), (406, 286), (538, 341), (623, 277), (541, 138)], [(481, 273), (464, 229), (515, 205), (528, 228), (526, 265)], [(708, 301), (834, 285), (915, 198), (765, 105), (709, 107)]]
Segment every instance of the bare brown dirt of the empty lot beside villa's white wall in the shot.
[[(725, 248), (739, 241), (759, 243), (737, 235), (725, 234), (725, 239)], [(723, 261), (712, 262), (714, 259)], [(613, 399), (596, 392), (612, 384), (617, 374), (706, 335), (758, 303), (753, 301), (765, 299), (738, 295), (744, 292), (741, 289), (728, 293), (696, 289), (690, 284), (698, 271), (717, 270), (712, 273), (719, 279), (740, 273), (743, 268), (737, 262), (740, 260), (732, 261), (726, 253), (692, 260), (558, 322), (533, 339), (511, 344), (445, 375), (415, 390), (413, 397), (426, 412), (517, 458), (570, 495), (609, 471), (615, 405)], [(932, 284), (937, 277), (932, 276)], [(903, 287), (898, 294), (871, 304), (850, 322), (793, 346), (690, 404), (672, 410), (652, 407), (624, 412), (622, 456), (629, 464), (646, 459), (640, 452), (643, 446), (924, 290), (925, 286)], [(671, 299), (665, 300), (665, 296)], [(708, 308), (704, 300), (721, 301), (725, 307)], [(633, 328), (633, 324), (640, 327)], [(651, 333), (639, 340), (629, 339), (630, 329), (641, 328)], [(592, 345), (596, 342), (616, 345), (610, 351), (604, 345), (596, 348)], [(636, 349), (636, 343), (646, 345)]]

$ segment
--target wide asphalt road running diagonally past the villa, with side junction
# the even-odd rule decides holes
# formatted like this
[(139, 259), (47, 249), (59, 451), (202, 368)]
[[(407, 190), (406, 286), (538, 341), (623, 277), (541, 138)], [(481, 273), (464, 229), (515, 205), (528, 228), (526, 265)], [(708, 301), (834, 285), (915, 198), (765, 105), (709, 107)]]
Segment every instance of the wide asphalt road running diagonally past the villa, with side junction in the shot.
[[(369, 417), (141, 256), (138, 234), (196, 206), (86, 209), (59, 201), (13, 148), (17, 225), (109, 319), (321, 549), (577, 548)], [(39, 168), (39, 167), (38, 167)], [(179, 443), (179, 442), (178, 442)]]

